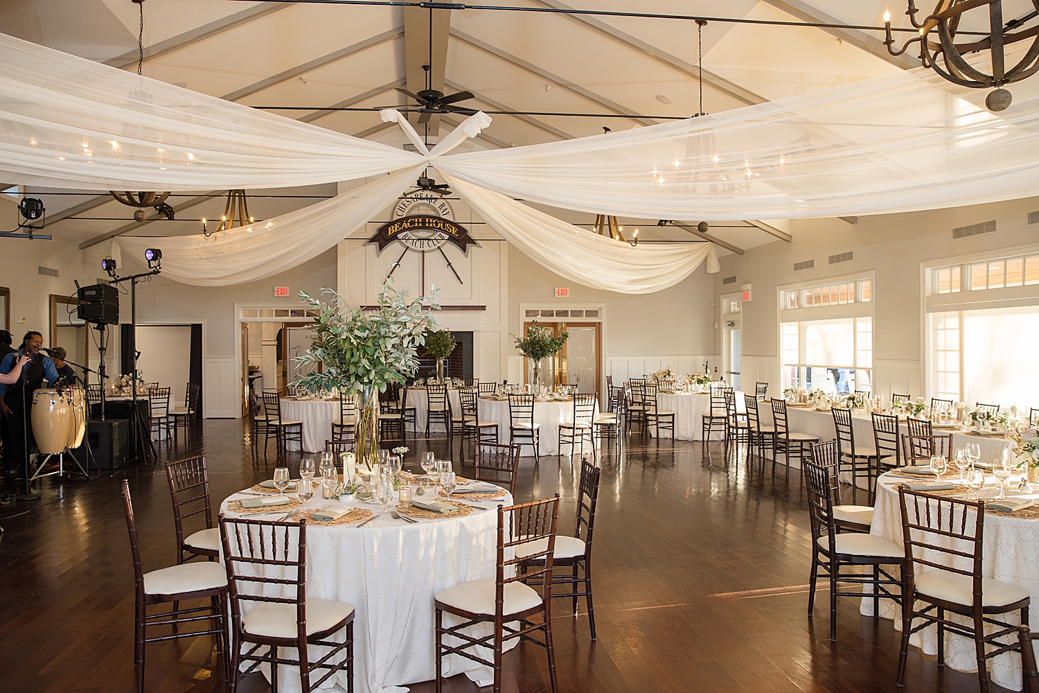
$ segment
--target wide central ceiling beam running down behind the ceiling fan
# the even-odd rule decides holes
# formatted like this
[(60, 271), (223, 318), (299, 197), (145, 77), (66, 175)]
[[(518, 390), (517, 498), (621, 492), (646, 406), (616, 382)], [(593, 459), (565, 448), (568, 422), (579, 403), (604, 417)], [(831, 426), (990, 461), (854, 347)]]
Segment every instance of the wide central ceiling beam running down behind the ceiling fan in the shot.
[[(422, 65), (429, 65), (429, 88), (444, 91), (450, 28), (450, 9), (404, 7), (404, 77), (407, 80), (407, 90), (411, 94), (418, 94), (426, 88), (426, 71)], [(408, 123), (418, 127), (421, 115), (421, 113), (408, 113)], [(425, 126), (426, 124), (423, 124), (423, 129)], [(439, 133), (438, 113), (433, 113), (429, 117), (428, 127), (434, 136)]]

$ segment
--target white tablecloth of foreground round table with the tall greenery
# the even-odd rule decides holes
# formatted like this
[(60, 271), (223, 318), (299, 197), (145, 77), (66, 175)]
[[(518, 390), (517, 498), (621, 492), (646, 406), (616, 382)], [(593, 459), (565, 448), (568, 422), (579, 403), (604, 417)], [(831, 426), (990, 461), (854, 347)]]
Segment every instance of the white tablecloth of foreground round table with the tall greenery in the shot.
[[(243, 498), (249, 497), (235, 494), (224, 499), (221, 513), (238, 516), (227, 506)], [(319, 508), (327, 503), (312, 499), (310, 505)], [(433, 595), (462, 582), (495, 577), (498, 513), (494, 509), (511, 505), (512, 496), (470, 503), (487, 510), (462, 517), (419, 519), (418, 525), (389, 515), (361, 528), (308, 524), (308, 596), (348, 602), (355, 610), (353, 683), (357, 693), (405, 693), (402, 686), (435, 678)], [(378, 512), (377, 505), (349, 505)], [(459, 622), (450, 614), (444, 618), (445, 624)], [(489, 632), (472, 630), (471, 634), (482, 637)], [(315, 647), (313, 651), (325, 650)], [(295, 650), (290, 654), (295, 656)], [(261, 668), (269, 681), (270, 667)], [(278, 689), (297, 693), (298, 667), (278, 667)], [(478, 686), (494, 681), (489, 667), (456, 655), (445, 657), (444, 675), (457, 673), (465, 673)], [(345, 669), (334, 678), (345, 691)]]

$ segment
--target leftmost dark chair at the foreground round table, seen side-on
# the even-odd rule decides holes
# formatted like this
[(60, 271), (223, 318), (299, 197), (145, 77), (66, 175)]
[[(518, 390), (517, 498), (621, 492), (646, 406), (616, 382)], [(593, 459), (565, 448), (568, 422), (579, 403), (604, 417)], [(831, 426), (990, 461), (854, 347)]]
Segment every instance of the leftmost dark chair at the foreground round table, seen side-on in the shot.
[[(216, 638), (216, 649), (228, 671), (228, 651), (223, 643), (223, 624), (227, 622), (224, 598), (228, 594), (228, 576), (217, 562), (179, 563), (166, 568), (144, 572), (137, 541), (137, 525), (134, 519), (133, 502), (130, 499), (130, 483), (123, 480), (123, 510), (130, 533), (130, 553), (133, 556), (134, 572), (134, 658), (133, 667), (137, 678), (137, 693), (144, 693), (144, 650), (148, 643), (180, 638), (195, 638), (212, 635)], [(208, 607), (181, 609), (181, 602), (209, 599)], [(169, 611), (149, 614), (148, 607), (171, 604)], [(203, 631), (180, 633), (179, 623), (211, 621), (212, 628)], [(174, 628), (172, 635), (163, 634), (148, 637), (148, 629), (154, 627)], [(165, 628), (162, 629), (165, 631)]]

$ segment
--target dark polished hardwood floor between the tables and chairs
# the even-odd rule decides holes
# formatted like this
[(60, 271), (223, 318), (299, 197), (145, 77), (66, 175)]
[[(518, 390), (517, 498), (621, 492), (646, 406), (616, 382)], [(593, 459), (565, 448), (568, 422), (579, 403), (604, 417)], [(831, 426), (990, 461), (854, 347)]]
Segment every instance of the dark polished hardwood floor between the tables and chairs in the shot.
[[(409, 468), (427, 443), (443, 454), (442, 437), (409, 439)], [(207, 421), (190, 443), (182, 433), (179, 445), (160, 444), (157, 462), (89, 483), (52, 477), (39, 501), (0, 506), (0, 690), (134, 689), (133, 570), (119, 484), (130, 480), (145, 569), (171, 565), (162, 462), (196, 452), (206, 453), (214, 503), (270, 478), (277, 465), (273, 447), (266, 457), (252, 453), (241, 422)], [(299, 458), (290, 454), (289, 467)], [(523, 462), (516, 499), (560, 492), (560, 530), (571, 532), (578, 473), (569, 460), (545, 457), (536, 470), (532, 458)], [(568, 601), (554, 601), (561, 691), (898, 690), (899, 637), (890, 621), (860, 616), (857, 599), (841, 599), (831, 644), (825, 583), (815, 619), (805, 614), (810, 540), (796, 473), (773, 480), (756, 464), (726, 462), (718, 444), (708, 451), (638, 435), (619, 458), (608, 448), (602, 465), (593, 553), (598, 639), (589, 639), (583, 603), (575, 617)], [(0, 490), (14, 490), (14, 482)], [(212, 649), (203, 639), (149, 645), (146, 690), (224, 691)], [(463, 676), (449, 684), (452, 692), (477, 690)], [(252, 675), (240, 690), (269, 687)], [(549, 690), (543, 650), (508, 654), (504, 690)], [(938, 668), (912, 648), (903, 690), (973, 693), (978, 679)]]

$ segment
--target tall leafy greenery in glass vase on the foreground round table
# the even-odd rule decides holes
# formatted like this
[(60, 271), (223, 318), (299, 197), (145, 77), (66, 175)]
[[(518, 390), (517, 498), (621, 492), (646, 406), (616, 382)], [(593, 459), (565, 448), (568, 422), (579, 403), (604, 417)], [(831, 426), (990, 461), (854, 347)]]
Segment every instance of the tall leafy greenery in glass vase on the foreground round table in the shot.
[(432, 298), (409, 301), (407, 291), (395, 289), (391, 279), (379, 293), (376, 311), (350, 308), (327, 287), (321, 293), (332, 299), (322, 302), (299, 292), (318, 318), (311, 328), (311, 348), (296, 358), (298, 365), (312, 364), (314, 370), (293, 384), (312, 393), (338, 389), (357, 396), (357, 458), (370, 470), (378, 457), (378, 393), (390, 384), (402, 384), (418, 370), (418, 347), (426, 332), (436, 328), (425, 306), (439, 309), (437, 292), (433, 290)]

